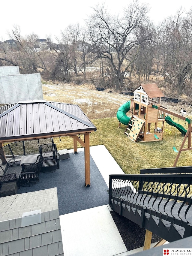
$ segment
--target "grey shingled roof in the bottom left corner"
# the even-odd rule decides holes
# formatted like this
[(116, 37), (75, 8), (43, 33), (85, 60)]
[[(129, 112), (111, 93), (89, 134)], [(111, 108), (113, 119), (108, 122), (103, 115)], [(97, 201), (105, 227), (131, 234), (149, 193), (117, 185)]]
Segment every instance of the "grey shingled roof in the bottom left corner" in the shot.
[[(23, 227), (23, 214), (35, 210), (41, 222)], [(63, 255), (56, 188), (0, 198), (0, 255)]]

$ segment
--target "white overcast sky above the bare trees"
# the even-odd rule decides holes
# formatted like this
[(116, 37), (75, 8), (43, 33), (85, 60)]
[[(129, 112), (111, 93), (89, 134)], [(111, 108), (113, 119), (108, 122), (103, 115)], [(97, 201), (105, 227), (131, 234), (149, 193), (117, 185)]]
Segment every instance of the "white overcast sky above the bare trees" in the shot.
[[(39, 38), (52, 35), (52, 41), (56, 42), (55, 36), (59, 36), (61, 30), (69, 24), (79, 23), (91, 14), (95, 5), (105, 2), (105, 6), (112, 14), (121, 13), (131, 0), (57, 0), (57, 1), (26, 1), (26, 0), (1, 0), (0, 8), (0, 41), (9, 39), (7, 32), (11, 32), (13, 25), (18, 25), (21, 34), (27, 35), (34, 32)], [(173, 16), (182, 7), (188, 11), (192, 6), (190, 0), (143, 0), (151, 8), (149, 17), (156, 24), (164, 18)]]

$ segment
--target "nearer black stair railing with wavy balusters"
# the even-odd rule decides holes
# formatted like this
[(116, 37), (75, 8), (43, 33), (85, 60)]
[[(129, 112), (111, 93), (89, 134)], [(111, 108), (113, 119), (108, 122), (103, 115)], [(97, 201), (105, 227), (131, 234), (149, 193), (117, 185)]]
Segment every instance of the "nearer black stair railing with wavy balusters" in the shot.
[[(110, 175), (109, 204), (130, 206), (182, 227), (192, 223), (192, 174)], [(121, 214), (121, 210), (119, 211)]]

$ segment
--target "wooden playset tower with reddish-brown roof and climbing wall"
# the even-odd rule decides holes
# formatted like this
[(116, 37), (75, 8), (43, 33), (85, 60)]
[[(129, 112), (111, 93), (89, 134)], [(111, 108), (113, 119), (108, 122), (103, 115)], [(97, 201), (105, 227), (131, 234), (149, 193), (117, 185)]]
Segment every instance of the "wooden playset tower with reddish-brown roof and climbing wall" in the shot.
[(134, 99), (131, 99), (129, 110), (132, 117), (125, 130), (125, 134), (132, 141), (163, 139), (165, 113), (152, 107), (152, 105), (160, 107), (161, 97), (164, 97), (164, 94), (155, 83), (141, 84), (134, 90)]

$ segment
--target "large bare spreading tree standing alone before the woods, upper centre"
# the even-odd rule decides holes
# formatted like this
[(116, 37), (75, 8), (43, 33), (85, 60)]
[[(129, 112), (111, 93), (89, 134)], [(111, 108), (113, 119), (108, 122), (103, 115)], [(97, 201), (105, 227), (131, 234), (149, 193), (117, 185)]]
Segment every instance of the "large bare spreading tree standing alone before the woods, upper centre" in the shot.
[(110, 65), (116, 89), (120, 89), (128, 68), (134, 62), (140, 44), (148, 38), (142, 33), (147, 26), (148, 7), (133, 2), (122, 17), (107, 12), (104, 5), (94, 8), (87, 23), (95, 59), (105, 59)]

